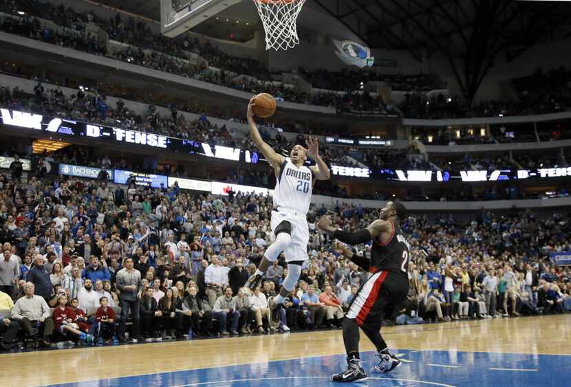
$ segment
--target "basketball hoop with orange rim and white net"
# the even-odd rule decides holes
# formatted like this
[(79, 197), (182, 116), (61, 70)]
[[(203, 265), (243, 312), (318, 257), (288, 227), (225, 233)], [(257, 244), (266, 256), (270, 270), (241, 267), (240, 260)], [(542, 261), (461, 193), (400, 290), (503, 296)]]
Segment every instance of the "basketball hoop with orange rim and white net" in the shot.
[(263, 30), (266, 49), (293, 48), (299, 44), (297, 16), (305, 0), (254, 0)]

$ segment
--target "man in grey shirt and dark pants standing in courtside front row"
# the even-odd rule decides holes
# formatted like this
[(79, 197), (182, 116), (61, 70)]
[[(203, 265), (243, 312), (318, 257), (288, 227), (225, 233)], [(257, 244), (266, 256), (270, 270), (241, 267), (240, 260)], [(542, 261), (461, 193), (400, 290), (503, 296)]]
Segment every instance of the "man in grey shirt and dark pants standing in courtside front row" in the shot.
[[(133, 258), (125, 258), (125, 267), (117, 273), (117, 288), (120, 290), (119, 302), (121, 307), (121, 320), (127, 321), (129, 311), (133, 320), (132, 342), (137, 342), (139, 336), (139, 298), (137, 296), (141, 288), (141, 274), (133, 269)], [(124, 340), (124, 338), (122, 338)], [(120, 340), (122, 340), (120, 339)]]

